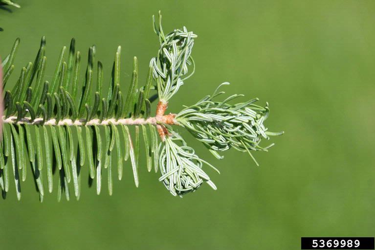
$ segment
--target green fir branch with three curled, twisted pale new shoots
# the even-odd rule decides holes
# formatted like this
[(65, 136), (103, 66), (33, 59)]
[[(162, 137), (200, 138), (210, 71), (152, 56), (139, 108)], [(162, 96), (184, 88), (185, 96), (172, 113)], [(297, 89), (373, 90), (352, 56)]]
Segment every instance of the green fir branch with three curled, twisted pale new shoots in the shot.
[[(267, 130), (264, 122), (269, 114), (268, 104), (258, 106), (254, 104), (256, 98), (230, 104), (231, 100), (242, 96), (232, 95), (217, 101), (214, 98), (223, 93), (218, 88), (178, 114), (165, 114), (170, 98), (195, 71), (191, 52), (197, 36), (185, 27), (165, 35), (160, 12), (158, 24), (154, 20), (154, 31), (160, 48), (157, 56), (151, 59), (146, 83), (138, 87), (138, 60), (134, 57), (132, 79), (126, 94), (120, 83), (121, 46), (115, 51), (108, 89), (103, 90), (106, 79), (102, 63), (96, 61), (95, 45), (88, 50), (83, 82), (80, 81), (81, 53), (77, 51), (74, 39), (67, 55), (66, 47), (61, 49), (53, 77), (47, 79), (46, 39), (42, 38), (33, 62), (22, 67), (13, 89), (5, 90), (5, 114), (0, 115), (0, 123), (3, 123), (0, 141), (3, 198), (10, 188), (11, 173), (17, 198), (21, 198), (21, 183), (26, 179), (28, 165), (31, 165), (40, 201), (46, 190), (54, 190), (54, 172), (59, 175), (58, 201), (63, 194), (67, 200), (71, 194), (79, 199), (81, 170), (85, 166), (89, 185), (96, 184), (97, 194), (103, 187), (102, 173), (107, 171), (108, 192), (112, 195), (113, 177), (123, 178), (123, 161), (130, 159), (134, 184), (139, 185), (138, 165), (143, 156), (149, 172), (153, 165), (155, 172), (160, 167), (159, 180), (175, 196), (194, 192), (203, 182), (216, 189), (202, 169), (204, 164), (214, 167), (200, 159), (171, 125), (187, 129), (219, 159), (222, 159), (219, 152), (230, 148), (248, 152), (253, 158), (250, 151), (267, 151), (273, 145), (262, 147), (260, 142), (262, 138), (269, 139), (269, 136), (283, 132)], [(0, 71), (3, 68), (0, 85), (3, 87), (15, 71), (14, 59), (19, 44), (20, 39), (16, 39), (9, 55), (0, 64)], [(151, 116), (153, 90), (157, 91), (159, 102), (155, 115)], [(129, 126), (135, 127), (134, 135)], [(141, 140), (144, 155), (139, 149)], [(114, 156), (116, 160), (112, 161)], [(71, 186), (73, 192), (69, 190)]]

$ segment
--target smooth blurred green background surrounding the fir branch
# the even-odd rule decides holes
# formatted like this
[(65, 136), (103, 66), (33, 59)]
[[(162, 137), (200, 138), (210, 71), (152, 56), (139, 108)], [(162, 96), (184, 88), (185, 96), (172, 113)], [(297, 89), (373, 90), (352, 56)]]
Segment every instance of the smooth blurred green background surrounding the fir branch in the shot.
[(17, 2), (22, 8), (12, 13), (0, 9), (0, 55), (21, 38), (17, 73), (45, 35), (51, 77), (60, 48), (75, 37), (84, 58), (97, 45), (107, 76), (122, 45), (122, 84), (130, 82), (134, 55), (143, 83), (158, 48), (151, 17), (160, 9), (165, 31), (185, 25), (199, 35), (196, 74), (170, 112), (228, 81), (228, 94), (268, 101), (267, 126), (286, 134), (272, 138), (270, 152), (254, 153), (256, 167), (236, 151), (214, 159), (180, 129), (221, 171), (207, 170), (217, 191), (204, 185), (183, 199), (144, 164), (138, 188), (128, 164), (111, 197), (106, 185), (100, 196), (83, 185), (79, 202), (57, 203), (53, 192), (40, 204), (29, 175), (20, 202), (13, 185), (0, 200), (1, 250), (292, 250), (301, 236), (374, 236), (375, 1)]

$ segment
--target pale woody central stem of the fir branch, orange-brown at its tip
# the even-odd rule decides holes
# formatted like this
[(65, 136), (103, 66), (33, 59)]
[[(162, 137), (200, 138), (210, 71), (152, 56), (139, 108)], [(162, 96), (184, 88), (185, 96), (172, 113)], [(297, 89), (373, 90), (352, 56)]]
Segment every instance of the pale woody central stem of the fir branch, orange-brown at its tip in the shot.
[(17, 121), (17, 116), (10, 116), (6, 118), (5, 116), (2, 116), (1, 121), (3, 123), (13, 123), (13, 124), (29, 124), (29, 125), (53, 125), (53, 126), (104, 126), (104, 125), (110, 125), (111, 123), (113, 125), (158, 125), (158, 124), (169, 124), (169, 125), (179, 125), (178, 122), (175, 119), (176, 114), (167, 114), (163, 116), (155, 116), (155, 117), (149, 117), (147, 119), (144, 118), (123, 118), (123, 119), (105, 119), (103, 121), (100, 121), (100, 119), (91, 119), (89, 121), (86, 121), (86, 119), (77, 119), (73, 121), (72, 119), (63, 119), (56, 123), (56, 119), (49, 119), (46, 120), (43, 123), (43, 118), (36, 118), (33, 121), (29, 117), (22, 118), (21, 120)]

